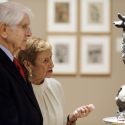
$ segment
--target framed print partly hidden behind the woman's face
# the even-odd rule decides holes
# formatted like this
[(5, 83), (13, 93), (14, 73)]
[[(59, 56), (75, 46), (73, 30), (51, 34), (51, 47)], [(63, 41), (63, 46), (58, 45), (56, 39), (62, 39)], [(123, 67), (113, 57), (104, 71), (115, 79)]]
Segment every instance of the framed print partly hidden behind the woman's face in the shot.
[(76, 36), (48, 36), (52, 45), (54, 74), (76, 74), (77, 41)]

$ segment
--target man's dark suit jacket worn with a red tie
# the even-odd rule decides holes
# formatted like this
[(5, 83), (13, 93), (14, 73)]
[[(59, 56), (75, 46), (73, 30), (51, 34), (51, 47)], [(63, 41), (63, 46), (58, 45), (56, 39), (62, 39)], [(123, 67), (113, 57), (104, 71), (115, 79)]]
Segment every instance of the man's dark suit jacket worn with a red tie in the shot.
[(43, 125), (30, 83), (0, 49), (0, 125)]

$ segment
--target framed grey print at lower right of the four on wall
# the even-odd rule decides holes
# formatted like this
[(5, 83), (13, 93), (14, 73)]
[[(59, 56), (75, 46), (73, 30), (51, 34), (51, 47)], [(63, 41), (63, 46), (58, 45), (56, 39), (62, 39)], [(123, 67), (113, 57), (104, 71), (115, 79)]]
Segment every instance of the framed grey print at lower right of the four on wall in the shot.
[(110, 37), (82, 36), (80, 41), (80, 72), (84, 75), (110, 74)]

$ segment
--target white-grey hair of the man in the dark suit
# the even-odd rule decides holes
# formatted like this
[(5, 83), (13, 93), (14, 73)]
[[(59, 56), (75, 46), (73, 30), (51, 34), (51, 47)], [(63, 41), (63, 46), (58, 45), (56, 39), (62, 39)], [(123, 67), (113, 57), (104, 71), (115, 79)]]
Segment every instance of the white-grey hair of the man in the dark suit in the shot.
[(33, 14), (31, 10), (16, 2), (0, 3), (0, 23), (8, 25), (17, 25), (27, 14), (31, 17)]

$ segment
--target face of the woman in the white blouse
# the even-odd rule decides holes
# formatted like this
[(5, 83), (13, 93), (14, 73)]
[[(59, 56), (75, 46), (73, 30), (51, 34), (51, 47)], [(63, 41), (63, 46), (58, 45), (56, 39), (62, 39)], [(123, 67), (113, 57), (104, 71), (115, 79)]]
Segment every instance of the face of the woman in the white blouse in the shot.
[(51, 77), (53, 72), (53, 62), (52, 62), (52, 52), (51, 50), (46, 50), (44, 52), (38, 53), (35, 65), (31, 66), (32, 69), (32, 79), (34, 83), (44, 80), (45, 77)]

